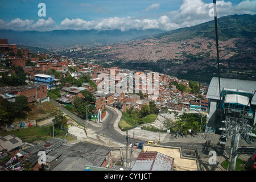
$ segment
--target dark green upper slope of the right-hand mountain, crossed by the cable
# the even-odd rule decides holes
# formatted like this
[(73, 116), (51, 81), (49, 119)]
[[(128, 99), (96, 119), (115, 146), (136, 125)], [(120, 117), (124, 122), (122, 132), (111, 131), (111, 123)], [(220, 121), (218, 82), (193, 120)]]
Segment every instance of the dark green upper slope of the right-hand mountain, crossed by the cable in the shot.
[[(256, 15), (229, 15), (217, 19), (218, 40), (232, 38), (256, 38)], [(179, 28), (155, 35), (154, 38), (169, 38), (180, 41), (193, 38), (215, 39), (214, 20), (192, 27)]]

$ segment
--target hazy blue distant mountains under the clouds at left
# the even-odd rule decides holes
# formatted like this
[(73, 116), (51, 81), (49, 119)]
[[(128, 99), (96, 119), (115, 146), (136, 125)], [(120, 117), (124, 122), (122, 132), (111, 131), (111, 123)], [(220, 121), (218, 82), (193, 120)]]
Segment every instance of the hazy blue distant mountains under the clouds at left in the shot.
[(53, 30), (39, 31), (13, 31), (0, 30), (0, 38), (8, 39), (9, 43), (36, 46), (56, 47), (75, 46), (77, 44), (90, 46), (105, 46), (123, 40), (130, 40), (141, 36), (151, 36), (164, 32), (163, 30)]

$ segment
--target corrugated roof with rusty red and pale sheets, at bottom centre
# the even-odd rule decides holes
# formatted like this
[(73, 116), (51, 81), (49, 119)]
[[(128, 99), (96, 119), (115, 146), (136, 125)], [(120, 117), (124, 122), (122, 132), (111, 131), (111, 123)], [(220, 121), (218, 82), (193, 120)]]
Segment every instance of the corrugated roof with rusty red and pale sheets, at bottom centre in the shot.
[(172, 171), (174, 158), (159, 152), (141, 152), (131, 171)]

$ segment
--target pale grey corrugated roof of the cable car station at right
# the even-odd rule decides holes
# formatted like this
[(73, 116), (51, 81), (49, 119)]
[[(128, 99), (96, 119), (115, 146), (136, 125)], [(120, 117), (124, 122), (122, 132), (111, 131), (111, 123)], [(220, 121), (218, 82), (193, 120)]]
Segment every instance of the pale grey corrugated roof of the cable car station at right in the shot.
[[(243, 92), (254, 92), (256, 90), (256, 81), (251, 80), (238, 80), (238, 79), (230, 79), (230, 78), (220, 78), (221, 92), (225, 89), (238, 89)], [(207, 92), (207, 98), (219, 100), (219, 85), (218, 85), (218, 77), (213, 77), (212, 81), (210, 81), (210, 85)], [(251, 104), (256, 105), (256, 94), (252, 98)]]

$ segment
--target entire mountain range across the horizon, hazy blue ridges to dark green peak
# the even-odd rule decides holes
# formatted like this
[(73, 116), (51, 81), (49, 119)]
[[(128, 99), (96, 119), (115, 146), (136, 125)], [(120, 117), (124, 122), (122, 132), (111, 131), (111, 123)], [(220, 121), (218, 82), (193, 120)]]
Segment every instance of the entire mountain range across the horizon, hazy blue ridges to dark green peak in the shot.
[[(256, 15), (229, 15), (218, 18), (218, 38), (254, 39), (256, 36)], [(53, 30), (53, 31), (13, 31), (0, 30), (0, 38), (8, 39), (9, 43), (36, 47), (67, 47), (77, 44), (83, 46), (106, 46), (108, 44), (142, 38), (168, 38), (170, 41), (192, 38), (215, 39), (214, 22), (209, 21), (191, 27), (172, 31), (158, 29), (148, 30)]]

